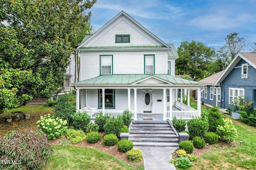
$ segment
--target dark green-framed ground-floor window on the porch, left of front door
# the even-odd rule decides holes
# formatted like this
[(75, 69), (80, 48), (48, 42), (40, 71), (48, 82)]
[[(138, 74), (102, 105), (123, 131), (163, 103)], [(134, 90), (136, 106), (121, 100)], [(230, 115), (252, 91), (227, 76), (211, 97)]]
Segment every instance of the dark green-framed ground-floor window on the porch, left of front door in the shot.
[[(99, 108), (102, 108), (102, 89), (99, 89)], [(105, 108), (115, 108), (114, 89), (105, 89)]]

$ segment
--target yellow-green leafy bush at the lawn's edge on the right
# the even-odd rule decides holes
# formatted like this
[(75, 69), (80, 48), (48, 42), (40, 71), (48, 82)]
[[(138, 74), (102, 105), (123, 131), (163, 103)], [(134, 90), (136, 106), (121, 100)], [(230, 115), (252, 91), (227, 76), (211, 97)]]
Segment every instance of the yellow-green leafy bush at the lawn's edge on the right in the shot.
[(224, 126), (218, 125), (217, 134), (219, 135), (220, 140), (230, 143), (237, 139), (237, 130), (230, 119), (223, 119)]

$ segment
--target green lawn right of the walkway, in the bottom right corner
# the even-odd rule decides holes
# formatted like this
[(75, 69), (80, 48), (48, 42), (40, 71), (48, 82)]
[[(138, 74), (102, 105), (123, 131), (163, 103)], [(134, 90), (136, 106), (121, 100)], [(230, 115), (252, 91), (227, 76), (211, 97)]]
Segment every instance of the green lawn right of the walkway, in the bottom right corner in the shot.
[(188, 170), (256, 170), (256, 127), (232, 121), (238, 131), (237, 143), (242, 141), (242, 145), (205, 153)]

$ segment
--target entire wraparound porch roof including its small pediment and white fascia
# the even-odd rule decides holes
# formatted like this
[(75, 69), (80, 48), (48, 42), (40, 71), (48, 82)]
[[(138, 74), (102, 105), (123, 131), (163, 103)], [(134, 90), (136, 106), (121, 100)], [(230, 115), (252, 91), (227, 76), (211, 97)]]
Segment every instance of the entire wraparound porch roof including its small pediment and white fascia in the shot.
[[(158, 81), (150, 81), (158, 80)], [(88, 85), (203, 85), (204, 83), (171, 76), (168, 74), (113, 74), (101, 75), (88, 80), (75, 82), (73, 86)]]

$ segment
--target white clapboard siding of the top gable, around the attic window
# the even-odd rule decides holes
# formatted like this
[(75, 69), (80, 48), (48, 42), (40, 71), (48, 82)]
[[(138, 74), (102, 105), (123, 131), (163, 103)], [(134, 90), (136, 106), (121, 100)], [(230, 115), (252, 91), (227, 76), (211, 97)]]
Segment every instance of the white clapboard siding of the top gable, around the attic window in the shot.
[[(115, 35), (130, 35), (130, 43), (116, 43)], [(97, 39), (90, 47), (101, 46), (131, 46), (131, 45), (156, 45), (150, 41), (145, 35), (137, 31), (132, 25), (126, 21), (121, 20), (114, 25), (109, 31), (104, 33), (99, 39)]]

